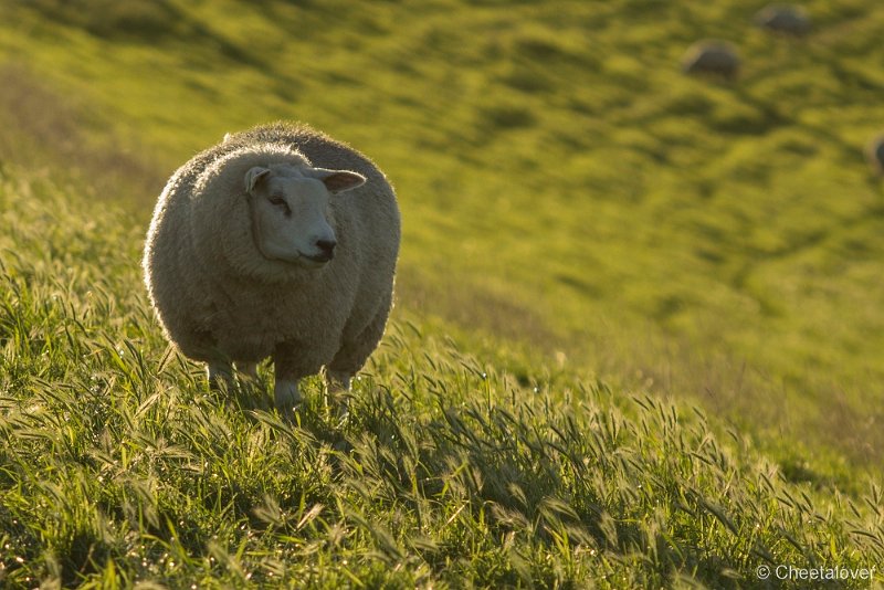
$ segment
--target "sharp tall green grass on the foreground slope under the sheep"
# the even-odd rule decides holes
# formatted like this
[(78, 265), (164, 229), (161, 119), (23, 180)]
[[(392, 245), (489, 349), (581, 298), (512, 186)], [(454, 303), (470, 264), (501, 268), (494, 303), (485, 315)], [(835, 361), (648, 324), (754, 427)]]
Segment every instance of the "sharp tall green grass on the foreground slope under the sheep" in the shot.
[(6, 166), (0, 211), (4, 587), (741, 588), (884, 559), (874, 484), (791, 483), (698, 409), (408, 312), (347, 422), (311, 379), (286, 423), (264, 370), (213, 393), (167, 346), (124, 210)]

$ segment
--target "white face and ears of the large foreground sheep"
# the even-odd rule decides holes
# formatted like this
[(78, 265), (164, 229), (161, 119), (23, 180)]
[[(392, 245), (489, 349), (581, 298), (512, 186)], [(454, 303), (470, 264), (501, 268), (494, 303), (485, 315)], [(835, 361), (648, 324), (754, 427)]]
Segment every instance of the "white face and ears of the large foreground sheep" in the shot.
[(324, 266), (335, 255), (329, 200), (359, 187), (365, 177), (346, 170), (255, 167), (245, 175), (252, 232), (269, 260), (308, 268)]

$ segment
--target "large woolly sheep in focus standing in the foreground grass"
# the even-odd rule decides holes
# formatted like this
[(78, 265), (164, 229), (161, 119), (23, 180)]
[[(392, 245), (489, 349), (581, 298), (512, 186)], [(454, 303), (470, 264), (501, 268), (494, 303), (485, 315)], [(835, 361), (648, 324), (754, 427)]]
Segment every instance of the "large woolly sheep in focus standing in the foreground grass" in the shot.
[(274, 402), (298, 380), (330, 388), (377, 347), (392, 306), (400, 217), (371, 160), (303, 124), (228, 134), (181, 166), (157, 201), (145, 284), (166, 337), (208, 365), (254, 376), (271, 357)]

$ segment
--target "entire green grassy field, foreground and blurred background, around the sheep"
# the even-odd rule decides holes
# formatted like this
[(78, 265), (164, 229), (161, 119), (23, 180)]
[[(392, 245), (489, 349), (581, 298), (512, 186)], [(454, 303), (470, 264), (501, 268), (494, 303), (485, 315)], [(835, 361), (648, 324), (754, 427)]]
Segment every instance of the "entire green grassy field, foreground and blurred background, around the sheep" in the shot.
[[(789, 39), (762, 4), (3, 3), (0, 580), (884, 567), (884, 9), (806, 2)], [(681, 74), (707, 36), (737, 81)], [(276, 118), (400, 197), (347, 424), (318, 382), (295, 425), (209, 394), (139, 283), (168, 175)]]

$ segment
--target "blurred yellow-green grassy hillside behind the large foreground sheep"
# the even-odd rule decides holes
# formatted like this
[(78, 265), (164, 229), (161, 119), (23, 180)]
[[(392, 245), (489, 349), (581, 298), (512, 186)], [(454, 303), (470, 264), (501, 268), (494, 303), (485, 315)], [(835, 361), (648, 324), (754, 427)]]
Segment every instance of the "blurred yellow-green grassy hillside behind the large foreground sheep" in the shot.
[[(806, 2), (794, 40), (761, 4), (7, 2), (4, 99), (63, 108), (0, 116), (143, 221), (225, 131), (311, 122), (396, 183), (402, 305), (881, 466), (884, 10)], [(681, 74), (706, 36), (737, 82)]]

